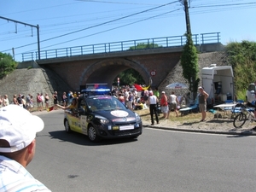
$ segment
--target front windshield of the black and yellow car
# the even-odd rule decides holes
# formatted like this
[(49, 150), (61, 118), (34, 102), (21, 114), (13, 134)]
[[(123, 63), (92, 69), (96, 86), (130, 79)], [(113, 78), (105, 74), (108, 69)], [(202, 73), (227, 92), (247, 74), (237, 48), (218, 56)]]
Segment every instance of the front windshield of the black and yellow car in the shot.
[(97, 96), (86, 98), (87, 106), (91, 111), (108, 111), (126, 109), (124, 104), (113, 96)]

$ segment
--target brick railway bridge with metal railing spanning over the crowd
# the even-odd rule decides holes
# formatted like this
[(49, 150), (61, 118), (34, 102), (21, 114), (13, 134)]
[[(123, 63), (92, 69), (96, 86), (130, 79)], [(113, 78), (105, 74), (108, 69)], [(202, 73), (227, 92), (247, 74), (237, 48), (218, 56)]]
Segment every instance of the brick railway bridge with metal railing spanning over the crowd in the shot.
[[(193, 35), (200, 52), (222, 50), (219, 39), (219, 32)], [(23, 54), (19, 67), (48, 68), (73, 90), (90, 83), (111, 86), (118, 74), (128, 68), (139, 72), (147, 85), (159, 86), (177, 65), (185, 43), (184, 36), (175, 36), (44, 50)], [(143, 49), (137, 49), (140, 44)]]

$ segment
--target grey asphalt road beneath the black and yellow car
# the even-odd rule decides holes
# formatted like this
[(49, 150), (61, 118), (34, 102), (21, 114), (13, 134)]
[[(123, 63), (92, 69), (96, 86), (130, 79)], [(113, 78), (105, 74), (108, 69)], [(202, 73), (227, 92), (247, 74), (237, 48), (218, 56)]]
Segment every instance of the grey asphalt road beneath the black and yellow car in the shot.
[(42, 113), (29, 172), (52, 191), (254, 191), (255, 137), (143, 129), (137, 140), (90, 143)]

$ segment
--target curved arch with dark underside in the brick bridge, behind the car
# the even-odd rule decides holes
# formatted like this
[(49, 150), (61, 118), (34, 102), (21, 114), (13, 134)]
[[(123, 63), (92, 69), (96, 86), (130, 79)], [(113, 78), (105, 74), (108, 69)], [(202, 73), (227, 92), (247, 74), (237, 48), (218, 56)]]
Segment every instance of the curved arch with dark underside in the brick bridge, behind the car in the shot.
[(111, 87), (114, 78), (128, 68), (133, 68), (140, 73), (146, 83), (150, 81), (147, 68), (140, 63), (125, 58), (113, 58), (96, 61), (84, 68), (79, 84), (107, 83)]

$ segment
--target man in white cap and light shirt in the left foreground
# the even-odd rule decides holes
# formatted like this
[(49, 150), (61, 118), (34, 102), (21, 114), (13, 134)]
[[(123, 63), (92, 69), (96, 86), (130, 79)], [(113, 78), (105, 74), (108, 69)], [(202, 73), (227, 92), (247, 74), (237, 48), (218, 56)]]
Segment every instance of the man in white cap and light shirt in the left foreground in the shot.
[(24, 108), (0, 109), (0, 192), (50, 191), (26, 171), (36, 149), (36, 133), (44, 121)]

